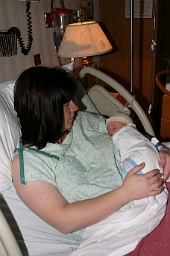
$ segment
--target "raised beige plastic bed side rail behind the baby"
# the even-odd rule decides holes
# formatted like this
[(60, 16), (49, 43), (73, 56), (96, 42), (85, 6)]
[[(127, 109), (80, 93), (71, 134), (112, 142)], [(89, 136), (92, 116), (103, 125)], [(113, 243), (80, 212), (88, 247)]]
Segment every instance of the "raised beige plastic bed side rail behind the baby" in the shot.
[[(136, 115), (138, 115), (139, 120), (141, 121), (145, 132), (148, 135), (151, 135), (154, 137), (154, 130), (151, 127), (150, 122), (148, 121), (147, 116), (145, 115), (145, 112), (139, 105), (139, 103), (135, 100), (135, 98), (122, 86), (119, 84), (119, 82), (116, 82), (116, 80), (112, 79), (110, 76), (107, 76), (107, 74), (94, 69), (92, 67), (86, 67), (86, 69), (82, 69), (81, 72), (78, 75), (78, 80), (81, 83), (86, 74), (90, 74), (92, 76), (97, 77), (101, 81), (104, 81), (107, 83), (107, 85), (110, 85), (113, 89), (115, 89), (119, 94), (122, 95), (122, 97), (127, 100), (127, 106), (130, 109), (133, 109), (134, 112), (136, 112)], [(95, 85), (92, 88), (89, 89), (88, 95), (91, 98), (92, 102), (95, 104), (95, 107), (98, 109), (101, 115), (111, 117), (115, 114), (115, 112), (122, 108), (122, 103), (120, 103), (116, 97), (113, 97), (112, 94), (110, 94), (104, 87), (100, 85)]]

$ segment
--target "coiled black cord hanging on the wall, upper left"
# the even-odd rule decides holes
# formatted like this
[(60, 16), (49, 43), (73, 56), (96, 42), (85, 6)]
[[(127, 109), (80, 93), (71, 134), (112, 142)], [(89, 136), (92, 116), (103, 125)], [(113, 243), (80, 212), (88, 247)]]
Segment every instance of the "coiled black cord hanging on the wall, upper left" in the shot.
[(27, 46), (25, 47), (25, 44), (22, 40), (21, 32), (19, 31), (19, 28), (12, 27), (7, 31), (8, 34), (15, 34), (16, 33), (16, 37), (19, 41), (19, 46), (21, 48), (21, 52), (22, 52), (23, 55), (28, 55), (28, 52), (30, 52), (32, 42), (33, 42), (30, 7), (31, 7), (31, 2), (26, 1), (26, 13), (27, 13), (27, 17), (28, 17), (28, 19), (27, 19), (27, 21), (28, 21), (28, 43), (27, 43)]

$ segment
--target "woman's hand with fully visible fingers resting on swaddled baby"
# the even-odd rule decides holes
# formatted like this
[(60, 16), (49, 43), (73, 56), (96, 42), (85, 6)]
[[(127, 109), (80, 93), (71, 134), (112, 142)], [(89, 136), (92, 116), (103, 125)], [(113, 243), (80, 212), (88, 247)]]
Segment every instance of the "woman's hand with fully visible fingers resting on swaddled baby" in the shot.
[(125, 187), (129, 201), (158, 195), (163, 191), (163, 178), (160, 170), (154, 169), (146, 174), (137, 174), (144, 168), (145, 163), (136, 165), (125, 177), (122, 186)]

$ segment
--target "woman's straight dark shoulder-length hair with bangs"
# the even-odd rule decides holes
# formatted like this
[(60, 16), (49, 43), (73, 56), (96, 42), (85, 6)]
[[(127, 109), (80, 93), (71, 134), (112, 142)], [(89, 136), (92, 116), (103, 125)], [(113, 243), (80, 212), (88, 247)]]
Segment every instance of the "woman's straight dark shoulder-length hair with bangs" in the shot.
[(14, 108), (22, 129), (23, 144), (39, 149), (60, 138), (63, 105), (74, 97), (76, 80), (61, 68), (31, 67), (16, 81)]

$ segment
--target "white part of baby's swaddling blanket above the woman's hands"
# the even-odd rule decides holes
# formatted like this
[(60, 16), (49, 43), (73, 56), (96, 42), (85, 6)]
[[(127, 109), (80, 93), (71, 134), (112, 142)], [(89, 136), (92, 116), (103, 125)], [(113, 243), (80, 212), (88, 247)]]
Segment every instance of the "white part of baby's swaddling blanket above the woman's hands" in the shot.
[[(113, 143), (120, 151), (121, 160), (124, 162), (133, 160), (133, 166), (145, 162), (145, 168), (141, 173), (159, 168), (159, 153), (154, 144), (142, 135), (133, 123), (119, 129), (112, 135)], [(123, 170), (124, 171), (124, 170)], [(125, 175), (127, 172), (125, 172)]]

